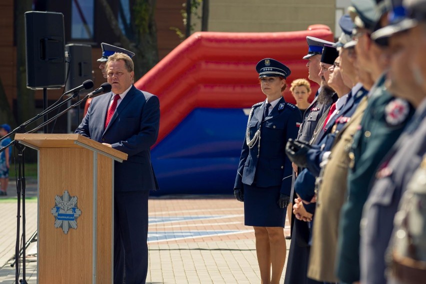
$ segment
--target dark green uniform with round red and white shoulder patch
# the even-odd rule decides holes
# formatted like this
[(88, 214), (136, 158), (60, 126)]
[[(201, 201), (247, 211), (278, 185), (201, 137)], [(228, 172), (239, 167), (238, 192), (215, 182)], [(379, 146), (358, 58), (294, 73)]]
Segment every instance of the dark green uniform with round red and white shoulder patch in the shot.
[(351, 147), (346, 201), (340, 212), (336, 275), (346, 283), (359, 281), (359, 222), (371, 181), (382, 158), (413, 114), (408, 103), (385, 89), (385, 74), (370, 91)]

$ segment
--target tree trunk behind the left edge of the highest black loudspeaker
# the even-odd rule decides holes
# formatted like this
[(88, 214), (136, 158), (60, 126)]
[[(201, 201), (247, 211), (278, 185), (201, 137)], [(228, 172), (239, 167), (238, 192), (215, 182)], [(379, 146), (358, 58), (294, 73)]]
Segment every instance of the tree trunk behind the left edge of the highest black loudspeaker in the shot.
[(34, 91), (26, 87), (25, 22), (24, 12), (32, 10), (32, 0), (16, 1), (16, 90), (17, 123), (21, 124), (35, 115)]

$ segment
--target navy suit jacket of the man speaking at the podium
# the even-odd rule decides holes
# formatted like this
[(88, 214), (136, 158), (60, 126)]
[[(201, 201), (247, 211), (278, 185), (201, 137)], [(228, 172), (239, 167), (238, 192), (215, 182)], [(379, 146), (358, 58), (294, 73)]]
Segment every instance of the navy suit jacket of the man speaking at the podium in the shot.
[(158, 97), (133, 85), (103, 129), (111, 96), (109, 92), (92, 99), (75, 133), (111, 144), (128, 155), (122, 163), (114, 162), (114, 191), (156, 190), (158, 183), (151, 165), (150, 146), (158, 136)]

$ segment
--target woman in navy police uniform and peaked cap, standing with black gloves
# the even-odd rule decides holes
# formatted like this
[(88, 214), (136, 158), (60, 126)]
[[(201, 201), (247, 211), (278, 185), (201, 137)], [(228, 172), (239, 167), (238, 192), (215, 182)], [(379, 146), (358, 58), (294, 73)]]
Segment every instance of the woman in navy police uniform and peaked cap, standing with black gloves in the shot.
[(254, 227), (261, 283), (275, 284), (285, 262), (283, 227), (292, 176), (285, 144), (297, 137), (301, 114), (282, 97), (290, 74), (287, 66), (264, 58), (256, 71), (266, 100), (254, 104), (248, 116), (234, 195), (244, 202), (245, 225)]

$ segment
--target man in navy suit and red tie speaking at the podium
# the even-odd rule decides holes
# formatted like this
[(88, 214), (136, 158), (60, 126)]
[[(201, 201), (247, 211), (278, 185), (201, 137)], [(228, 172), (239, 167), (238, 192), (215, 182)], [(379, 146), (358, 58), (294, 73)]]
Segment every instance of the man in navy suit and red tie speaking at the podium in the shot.
[(106, 62), (112, 92), (95, 97), (75, 133), (128, 154), (114, 163), (114, 283), (145, 283), (148, 195), (158, 189), (150, 146), (158, 136), (158, 97), (133, 86), (133, 61), (114, 53)]

